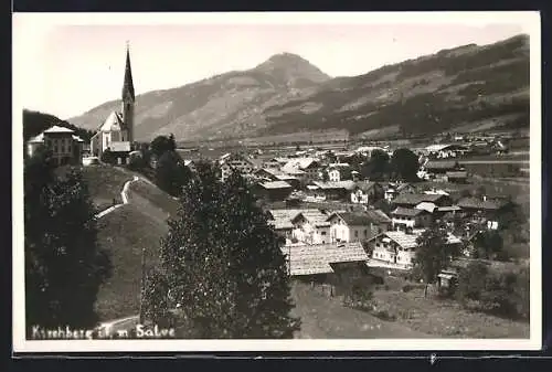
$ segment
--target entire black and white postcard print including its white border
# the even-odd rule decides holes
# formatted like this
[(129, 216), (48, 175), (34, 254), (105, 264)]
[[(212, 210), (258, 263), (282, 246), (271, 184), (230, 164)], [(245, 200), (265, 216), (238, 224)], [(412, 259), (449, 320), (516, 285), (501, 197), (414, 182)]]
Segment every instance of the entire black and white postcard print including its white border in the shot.
[(12, 20), (15, 352), (541, 348), (538, 12)]

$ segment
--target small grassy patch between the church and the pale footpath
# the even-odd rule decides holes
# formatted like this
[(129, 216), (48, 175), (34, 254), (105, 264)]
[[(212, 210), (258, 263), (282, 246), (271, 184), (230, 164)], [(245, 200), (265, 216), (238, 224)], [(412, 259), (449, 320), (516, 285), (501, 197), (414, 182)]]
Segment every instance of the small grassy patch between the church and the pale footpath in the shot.
[(110, 166), (83, 167), (83, 176), (88, 183), (88, 190), (94, 205), (103, 211), (114, 204), (123, 203), (120, 191), (125, 182), (132, 179), (131, 173)]

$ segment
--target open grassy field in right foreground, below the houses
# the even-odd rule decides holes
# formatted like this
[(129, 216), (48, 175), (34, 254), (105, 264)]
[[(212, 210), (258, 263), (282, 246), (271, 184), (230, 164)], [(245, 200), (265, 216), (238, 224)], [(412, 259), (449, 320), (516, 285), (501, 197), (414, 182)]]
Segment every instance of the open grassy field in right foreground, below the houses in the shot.
[[(424, 298), (423, 286), (407, 293), (400, 277), (386, 276), (385, 286), (373, 291), (374, 315), (348, 308), (342, 297), (330, 297), (317, 287), (295, 281), (294, 316), (301, 318), (298, 339), (336, 338), (529, 338), (529, 323), (465, 310), (453, 299)], [(412, 284), (411, 284), (412, 285)]]

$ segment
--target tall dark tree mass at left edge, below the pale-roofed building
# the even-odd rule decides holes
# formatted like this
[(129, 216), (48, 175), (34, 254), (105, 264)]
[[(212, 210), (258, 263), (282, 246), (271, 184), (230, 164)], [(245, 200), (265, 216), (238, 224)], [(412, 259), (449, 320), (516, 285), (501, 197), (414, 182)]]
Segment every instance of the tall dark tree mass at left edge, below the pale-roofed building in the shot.
[(24, 183), (28, 329), (95, 326), (94, 304), (112, 265), (97, 243), (87, 184), (78, 169), (55, 176), (49, 152), (29, 159)]

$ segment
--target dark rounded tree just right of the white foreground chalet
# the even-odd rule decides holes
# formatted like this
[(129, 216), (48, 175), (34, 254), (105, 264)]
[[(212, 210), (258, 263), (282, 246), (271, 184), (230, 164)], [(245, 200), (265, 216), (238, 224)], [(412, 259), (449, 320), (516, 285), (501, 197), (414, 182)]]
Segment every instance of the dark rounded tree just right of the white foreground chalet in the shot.
[(416, 238), (418, 246), (413, 265), (422, 274), (426, 284), (424, 296), (427, 295), (427, 286), (437, 279), (440, 270), (460, 255), (460, 246), (448, 244), (447, 235), (445, 228), (436, 225), (427, 228)]

